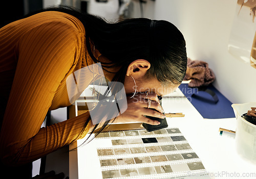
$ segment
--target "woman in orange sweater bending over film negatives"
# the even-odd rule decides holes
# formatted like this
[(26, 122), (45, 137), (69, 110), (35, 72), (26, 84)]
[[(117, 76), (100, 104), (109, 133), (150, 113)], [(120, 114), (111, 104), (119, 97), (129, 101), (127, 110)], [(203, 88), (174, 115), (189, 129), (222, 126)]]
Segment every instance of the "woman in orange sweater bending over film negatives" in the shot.
[[(115, 121), (157, 125), (144, 115), (165, 117), (157, 95), (174, 91), (183, 80), (185, 41), (167, 21), (108, 23), (67, 7), (47, 9), (0, 29), (2, 163), (25, 165), (113, 122), (95, 125), (88, 112), (40, 129), (48, 111), (71, 105), (68, 76), (98, 62), (105, 78), (123, 83), (127, 94), (127, 110)], [(131, 98), (134, 92), (141, 93)], [(150, 108), (144, 99), (152, 100)]]

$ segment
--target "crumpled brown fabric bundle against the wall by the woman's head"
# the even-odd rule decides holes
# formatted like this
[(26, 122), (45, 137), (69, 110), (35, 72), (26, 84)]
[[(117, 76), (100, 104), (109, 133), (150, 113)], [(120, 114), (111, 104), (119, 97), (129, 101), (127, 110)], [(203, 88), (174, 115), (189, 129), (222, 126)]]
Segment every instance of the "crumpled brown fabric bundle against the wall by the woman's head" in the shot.
[(189, 87), (207, 86), (214, 82), (214, 72), (208, 67), (208, 63), (200, 60), (187, 59), (187, 71), (184, 80), (191, 80)]

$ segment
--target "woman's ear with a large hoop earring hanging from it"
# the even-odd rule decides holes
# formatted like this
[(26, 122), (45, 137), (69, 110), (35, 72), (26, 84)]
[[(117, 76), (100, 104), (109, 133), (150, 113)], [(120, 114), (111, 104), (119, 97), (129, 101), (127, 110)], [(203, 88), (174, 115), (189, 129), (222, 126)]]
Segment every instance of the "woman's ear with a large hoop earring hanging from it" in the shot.
[(126, 75), (132, 75), (134, 78), (139, 78), (145, 75), (146, 71), (150, 69), (150, 62), (144, 59), (133, 61), (127, 68)]

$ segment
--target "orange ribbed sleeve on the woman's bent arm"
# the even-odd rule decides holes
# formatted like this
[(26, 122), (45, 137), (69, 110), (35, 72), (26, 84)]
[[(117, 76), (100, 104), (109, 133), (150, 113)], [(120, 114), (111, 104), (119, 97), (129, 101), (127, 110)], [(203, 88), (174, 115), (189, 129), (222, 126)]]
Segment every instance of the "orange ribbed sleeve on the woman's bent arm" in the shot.
[[(58, 87), (80, 58), (82, 38), (83, 33), (59, 20), (35, 24), (19, 37), (15, 76), (0, 136), (5, 163), (34, 161), (88, 132), (86, 129), (79, 136), (89, 113), (40, 128)], [(2, 69), (4, 65), (10, 66), (3, 64)]]

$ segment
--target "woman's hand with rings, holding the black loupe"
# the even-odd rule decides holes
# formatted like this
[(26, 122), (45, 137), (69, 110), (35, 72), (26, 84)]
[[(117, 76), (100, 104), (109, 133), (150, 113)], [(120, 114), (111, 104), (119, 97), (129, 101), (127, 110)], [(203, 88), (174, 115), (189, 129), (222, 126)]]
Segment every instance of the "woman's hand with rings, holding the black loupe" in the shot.
[[(151, 100), (150, 108), (147, 108), (147, 99)], [(127, 97), (126, 111), (117, 116), (114, 122), (144, 122), (151, 125), (159, 125), (159, 121), (145, 116), (163, 119), (166, 117), (163, 112), (156, 93), (138, 93), (133, 98)]]

